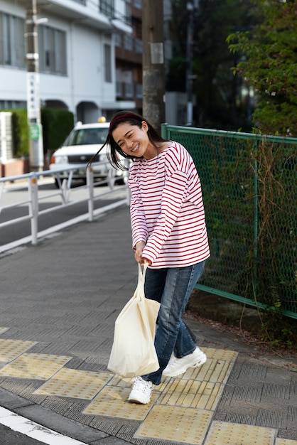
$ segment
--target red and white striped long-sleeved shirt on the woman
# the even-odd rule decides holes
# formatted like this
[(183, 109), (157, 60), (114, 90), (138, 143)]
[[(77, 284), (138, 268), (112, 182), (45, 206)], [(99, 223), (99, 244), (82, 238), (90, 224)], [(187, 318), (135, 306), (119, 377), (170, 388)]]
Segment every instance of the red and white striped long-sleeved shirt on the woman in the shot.
[(135, 159), (129, 188), (133, 248), (146, 243), (151, 267), (185, 267), (210, 256), (200, 178), (184, 146), (171, 141), (153, 159)]

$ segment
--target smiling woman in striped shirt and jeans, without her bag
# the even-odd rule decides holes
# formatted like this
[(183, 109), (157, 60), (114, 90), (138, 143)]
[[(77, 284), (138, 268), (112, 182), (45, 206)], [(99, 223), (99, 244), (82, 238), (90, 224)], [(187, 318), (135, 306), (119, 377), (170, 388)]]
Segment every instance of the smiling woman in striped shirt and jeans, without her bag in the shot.
[(119, 155), (134, 161), (129, 168), (133, 250), (137, 262), (148, 262), (146, 298), (161, 303), (155, 337), (160, 368), (136, 377), (128, 399), (146, 404), (162, 374), (175, 377), (206, 361), (182, 320), (210, 256), (200, 179), (188, 151), (133, 112), (115, 114), (105, 144), (113, 166), (124, 169)]

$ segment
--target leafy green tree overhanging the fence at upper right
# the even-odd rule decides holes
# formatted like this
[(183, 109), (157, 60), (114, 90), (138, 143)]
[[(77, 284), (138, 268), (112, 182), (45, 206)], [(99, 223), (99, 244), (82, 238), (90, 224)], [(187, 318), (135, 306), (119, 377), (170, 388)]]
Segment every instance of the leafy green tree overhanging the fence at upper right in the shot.
[(228, 36), (234, 67), (258, 98), (252, 120), (264, 134), (297, 136), (297, 3), (252, 0), (261, 24)]

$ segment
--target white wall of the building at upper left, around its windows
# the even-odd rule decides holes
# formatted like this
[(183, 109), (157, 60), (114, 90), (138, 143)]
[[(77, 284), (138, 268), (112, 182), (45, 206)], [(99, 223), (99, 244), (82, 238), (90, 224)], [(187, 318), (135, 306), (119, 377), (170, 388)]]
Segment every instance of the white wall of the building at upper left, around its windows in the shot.
[[(38, 26), (38, 37), (42, 26), (65, 33), (67, 67), (63, 75), (40, 72), (41, 103), (70, 109), (76, 118), (80, 114), (85, 122), (97, 120), (107, 108), (117, 109), (112, 37), (114, 23), (99, 14), (94, 1), (87, 0), (86, 6), (65, 0), (38, 0), (38, 3), (38, 18), (48, 18), (48, 23)], [(63, 4), (67, 4), (68, 9)], [(115, 4), (122, 13), (123, 0), (117, 0)], [(1, 0), (0, 13), (26, 21), (26, 1)], [(122, 22), (120, 26), (123, 27)], [(127, 26), (124, 29), (129, 31)], [(109, 45), (111, 55), (111, 77), (108, 82), (105, 80), (104, 45)], [(26, 78), (26, 64), (23, 68), (17, 68), (0, 63), (0, 108), (4, 108), (4, 105), (18, 107), (18, 104), (26, 102)]]

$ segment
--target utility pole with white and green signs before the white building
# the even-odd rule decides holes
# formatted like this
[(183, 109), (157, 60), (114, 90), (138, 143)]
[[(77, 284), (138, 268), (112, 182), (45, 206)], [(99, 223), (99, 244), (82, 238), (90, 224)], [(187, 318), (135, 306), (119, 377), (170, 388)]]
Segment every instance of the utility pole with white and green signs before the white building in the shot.
[(39, 98), (39, 54), (38, 32), (40, 23), (47, 18), (37, 19), (36, 0), (27, 0), (27, 119), (29, 130), (29, 162), (31, 171), (43, 170), (43, 132)]

